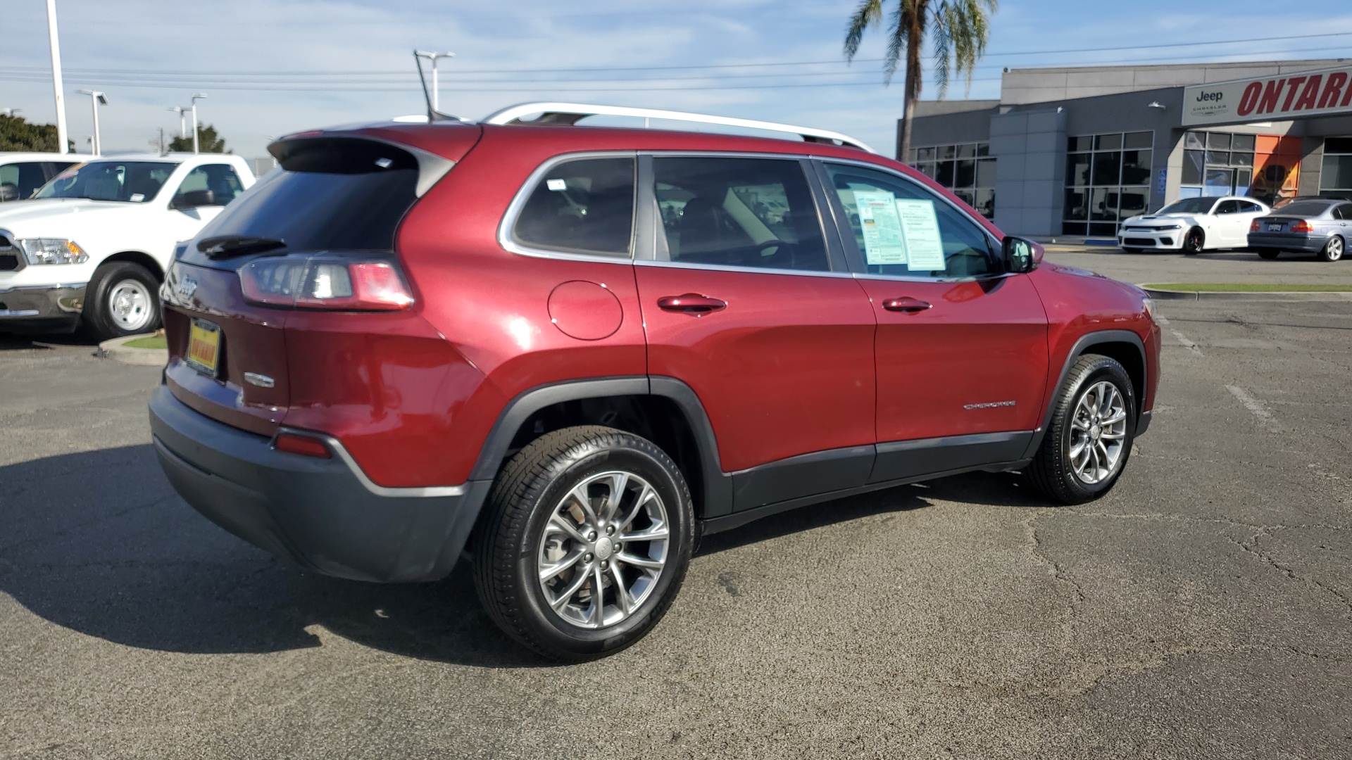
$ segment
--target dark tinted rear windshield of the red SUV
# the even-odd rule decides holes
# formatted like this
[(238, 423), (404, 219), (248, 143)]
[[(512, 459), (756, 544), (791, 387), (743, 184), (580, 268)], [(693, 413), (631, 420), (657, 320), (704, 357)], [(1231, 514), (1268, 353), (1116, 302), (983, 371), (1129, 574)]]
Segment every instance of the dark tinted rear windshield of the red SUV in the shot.
[[(412, 154), (353, 138), (299, 139), (272, 150), (281, 170), (235, 199), (197, 239), (269, 238), (291, 252), (393, 250), (399, 222), (416, 200)], [(196, 253), (189, 246), (184, 260)]]

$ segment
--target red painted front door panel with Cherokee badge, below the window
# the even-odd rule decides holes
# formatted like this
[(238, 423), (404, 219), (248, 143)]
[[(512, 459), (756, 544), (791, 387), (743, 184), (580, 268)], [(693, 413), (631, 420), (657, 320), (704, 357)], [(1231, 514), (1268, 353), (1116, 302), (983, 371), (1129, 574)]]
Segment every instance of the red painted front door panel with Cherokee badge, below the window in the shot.
[[(1026, 276), (860, 280), (877, 318), (877, 440), (1033, 430), (1046, 385), (1046, 312)], [(888, 311), (891, 300), (929, 303)]]

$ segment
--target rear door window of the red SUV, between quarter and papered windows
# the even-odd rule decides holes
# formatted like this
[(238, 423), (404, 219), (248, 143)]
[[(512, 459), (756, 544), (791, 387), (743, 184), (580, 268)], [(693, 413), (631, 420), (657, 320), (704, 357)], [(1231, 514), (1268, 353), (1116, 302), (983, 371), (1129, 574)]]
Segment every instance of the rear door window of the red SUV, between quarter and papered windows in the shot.
[(657, 258), (826, 272), (830, 260), (798, 160), (654, 158)]

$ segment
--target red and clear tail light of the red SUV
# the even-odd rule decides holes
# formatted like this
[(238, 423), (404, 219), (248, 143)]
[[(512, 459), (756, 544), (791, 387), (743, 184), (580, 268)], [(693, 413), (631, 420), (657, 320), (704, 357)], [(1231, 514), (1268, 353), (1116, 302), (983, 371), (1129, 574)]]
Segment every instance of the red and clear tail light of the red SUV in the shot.
[(399, 268), (384, 258), (293, 253), (239, 269), (245, 299), (268, 306), (399, 311), (414, 303)]

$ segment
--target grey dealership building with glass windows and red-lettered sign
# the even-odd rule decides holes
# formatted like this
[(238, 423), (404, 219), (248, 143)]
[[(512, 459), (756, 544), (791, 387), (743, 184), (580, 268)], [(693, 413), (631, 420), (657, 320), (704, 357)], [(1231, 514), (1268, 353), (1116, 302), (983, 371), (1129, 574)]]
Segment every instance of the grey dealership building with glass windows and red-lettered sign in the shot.
[(917, 103), (911, 146), (907, 164), (1030, 237), (1113, 237), (1202, 195), (1352, 197), (1352, 62), (1006, 69), (999, 100)]

